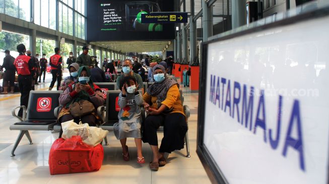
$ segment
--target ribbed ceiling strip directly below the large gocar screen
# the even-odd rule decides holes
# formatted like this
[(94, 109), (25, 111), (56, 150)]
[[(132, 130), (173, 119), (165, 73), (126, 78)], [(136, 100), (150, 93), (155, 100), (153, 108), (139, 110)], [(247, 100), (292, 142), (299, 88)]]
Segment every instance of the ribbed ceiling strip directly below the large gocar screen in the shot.
[(114, 51), (125, 52), (158, 52), (162, 51), (169, 41), (109, 41), (90, 42), (99, 47), (105, 47)]

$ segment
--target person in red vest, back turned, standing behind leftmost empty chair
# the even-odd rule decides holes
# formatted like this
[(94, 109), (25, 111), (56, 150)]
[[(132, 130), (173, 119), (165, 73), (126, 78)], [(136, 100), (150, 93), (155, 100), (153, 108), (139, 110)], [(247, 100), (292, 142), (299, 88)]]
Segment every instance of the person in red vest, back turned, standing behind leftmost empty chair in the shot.
[[(26, 48), (24, 44), (17, 45), (19, 56), (15, 59), (14, 65), (18, 74), (18, 85), (21, 92), (21, 106), (27, 107), (29, 95), (32, 89), (33, 61), (31, 57), (25, 55)], [(19, 117), (23, 117), (23, 109), (18, 112)]]

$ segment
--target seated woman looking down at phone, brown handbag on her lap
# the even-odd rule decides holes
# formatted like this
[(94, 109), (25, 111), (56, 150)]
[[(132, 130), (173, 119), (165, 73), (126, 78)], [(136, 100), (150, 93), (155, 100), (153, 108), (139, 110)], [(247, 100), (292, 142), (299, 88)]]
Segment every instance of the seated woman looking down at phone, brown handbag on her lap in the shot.
[[(81, 66), (78, 70), (78, 81), (74, 84), (69, 84), (59, 96), (59, 104), (63, 106), (58, 115), (58, 122), (63, 123), (70, 120), (79, 123), (88, 123), (89, 126), (96, 126), (99, 122), (99, 118), (96, 112), (92, 112), (89, 115), (80, 117), (73, 117), (70, 112), (70, 105), (75, 102), (87, 100), (91, 102), (95, 110), (99, 106), (104, 104), (103, 95), (101, 89), (93, 83), (90, 79), (90, 69), (88, 66)], [(60, 130), (59, 137), (61, 137), (62, 130)]]

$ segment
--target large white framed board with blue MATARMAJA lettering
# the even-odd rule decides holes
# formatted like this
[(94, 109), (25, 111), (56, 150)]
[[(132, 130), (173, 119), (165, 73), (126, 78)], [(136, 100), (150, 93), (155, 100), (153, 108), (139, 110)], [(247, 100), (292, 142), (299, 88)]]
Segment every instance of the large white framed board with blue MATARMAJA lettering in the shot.
[(321, 13), (203, 45), (197, 152), (214, 182), (328, 183), (329, 8)]

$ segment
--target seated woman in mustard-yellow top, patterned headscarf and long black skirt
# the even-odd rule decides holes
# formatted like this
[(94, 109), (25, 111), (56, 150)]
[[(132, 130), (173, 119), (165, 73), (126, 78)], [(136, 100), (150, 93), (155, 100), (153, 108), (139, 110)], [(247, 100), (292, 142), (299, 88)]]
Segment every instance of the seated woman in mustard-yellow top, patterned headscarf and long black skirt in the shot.
[[(151, 170), (158, 170), (167, 162), (164, 153), (184, 147), (184, 137), (187, 131), (186, 119), (180, 100), (179, 85), (165, 75), (165, 68), (158, 64), (153, 67), (155, 83), (150, 85), (143, 96), (144, 106), (149, 116), (144, 123), (143, 142), (148, 142), (153, 152), (150, 163)], [(149, 107), (148, 107), (149, 106)], [(157, 130), (164, 128), (164, 136), (158, 148)]]

